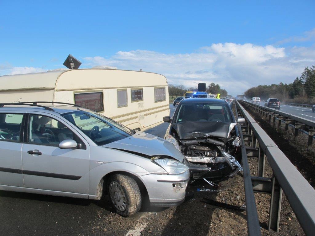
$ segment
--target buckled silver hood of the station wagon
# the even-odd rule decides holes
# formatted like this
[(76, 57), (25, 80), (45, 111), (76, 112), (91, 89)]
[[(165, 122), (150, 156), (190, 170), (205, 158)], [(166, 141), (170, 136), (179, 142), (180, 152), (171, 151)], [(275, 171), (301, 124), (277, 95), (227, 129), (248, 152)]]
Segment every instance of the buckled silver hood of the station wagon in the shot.
[(172, 143), (144, 132), (136, 132), (128, 138), (108, 143), (103, 147), (132, 151), (149, 156), (166, 155), (180, 162), (184, 160), (184, 155)]

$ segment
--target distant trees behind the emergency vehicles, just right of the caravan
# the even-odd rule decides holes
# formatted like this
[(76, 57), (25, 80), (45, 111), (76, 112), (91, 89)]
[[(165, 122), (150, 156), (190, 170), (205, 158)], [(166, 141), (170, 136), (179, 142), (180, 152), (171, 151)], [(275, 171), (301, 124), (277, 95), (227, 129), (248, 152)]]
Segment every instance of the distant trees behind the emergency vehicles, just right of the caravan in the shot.
[[(186, 88), (184, 85), (169, 84), (169, 96), (171, 97), (184, 96), (184, 94), (187, 91), (198, 91), (198, 88), (197, 87)], [(226, 97), (227, 95), (227, 91), (221, 88), (219, 84), (215, 83), (211, 83), (210, 85), (208, 85), (206, 92), (211, 94), (220, 93), (220, 97)]]

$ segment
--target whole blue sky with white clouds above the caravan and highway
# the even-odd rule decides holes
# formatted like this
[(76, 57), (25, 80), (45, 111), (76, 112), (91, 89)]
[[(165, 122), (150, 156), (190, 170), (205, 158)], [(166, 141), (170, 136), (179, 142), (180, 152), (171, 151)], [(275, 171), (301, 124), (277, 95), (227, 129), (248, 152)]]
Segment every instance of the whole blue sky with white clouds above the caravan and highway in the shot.
[(315, 65), (314, 10), (312, 1), (0, 0), (0, 75), (62, 68), (70, 53), (82, 68), (143, 69), (242, 93)]

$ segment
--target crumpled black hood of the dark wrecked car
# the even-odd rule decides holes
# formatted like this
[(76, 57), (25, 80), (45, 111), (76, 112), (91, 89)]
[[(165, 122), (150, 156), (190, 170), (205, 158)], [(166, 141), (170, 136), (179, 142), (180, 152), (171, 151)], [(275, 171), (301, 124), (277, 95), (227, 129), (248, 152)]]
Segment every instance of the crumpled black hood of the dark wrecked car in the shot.
[(172, 126), (180, 139), (206, 137), (228, 138), (235, 123), (219, 121), (185, 121), (173, 123)]

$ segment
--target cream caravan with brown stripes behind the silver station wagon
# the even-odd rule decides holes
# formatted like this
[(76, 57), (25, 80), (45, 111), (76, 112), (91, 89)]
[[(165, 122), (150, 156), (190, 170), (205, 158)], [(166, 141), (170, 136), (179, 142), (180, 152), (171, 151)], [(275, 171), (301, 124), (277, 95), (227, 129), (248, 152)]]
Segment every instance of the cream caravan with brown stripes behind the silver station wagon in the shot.
[(131, 70), (77, 69), (0, 76), (0, 103), (77, 104), (145, 131), (169, 116), (165, 76)]

